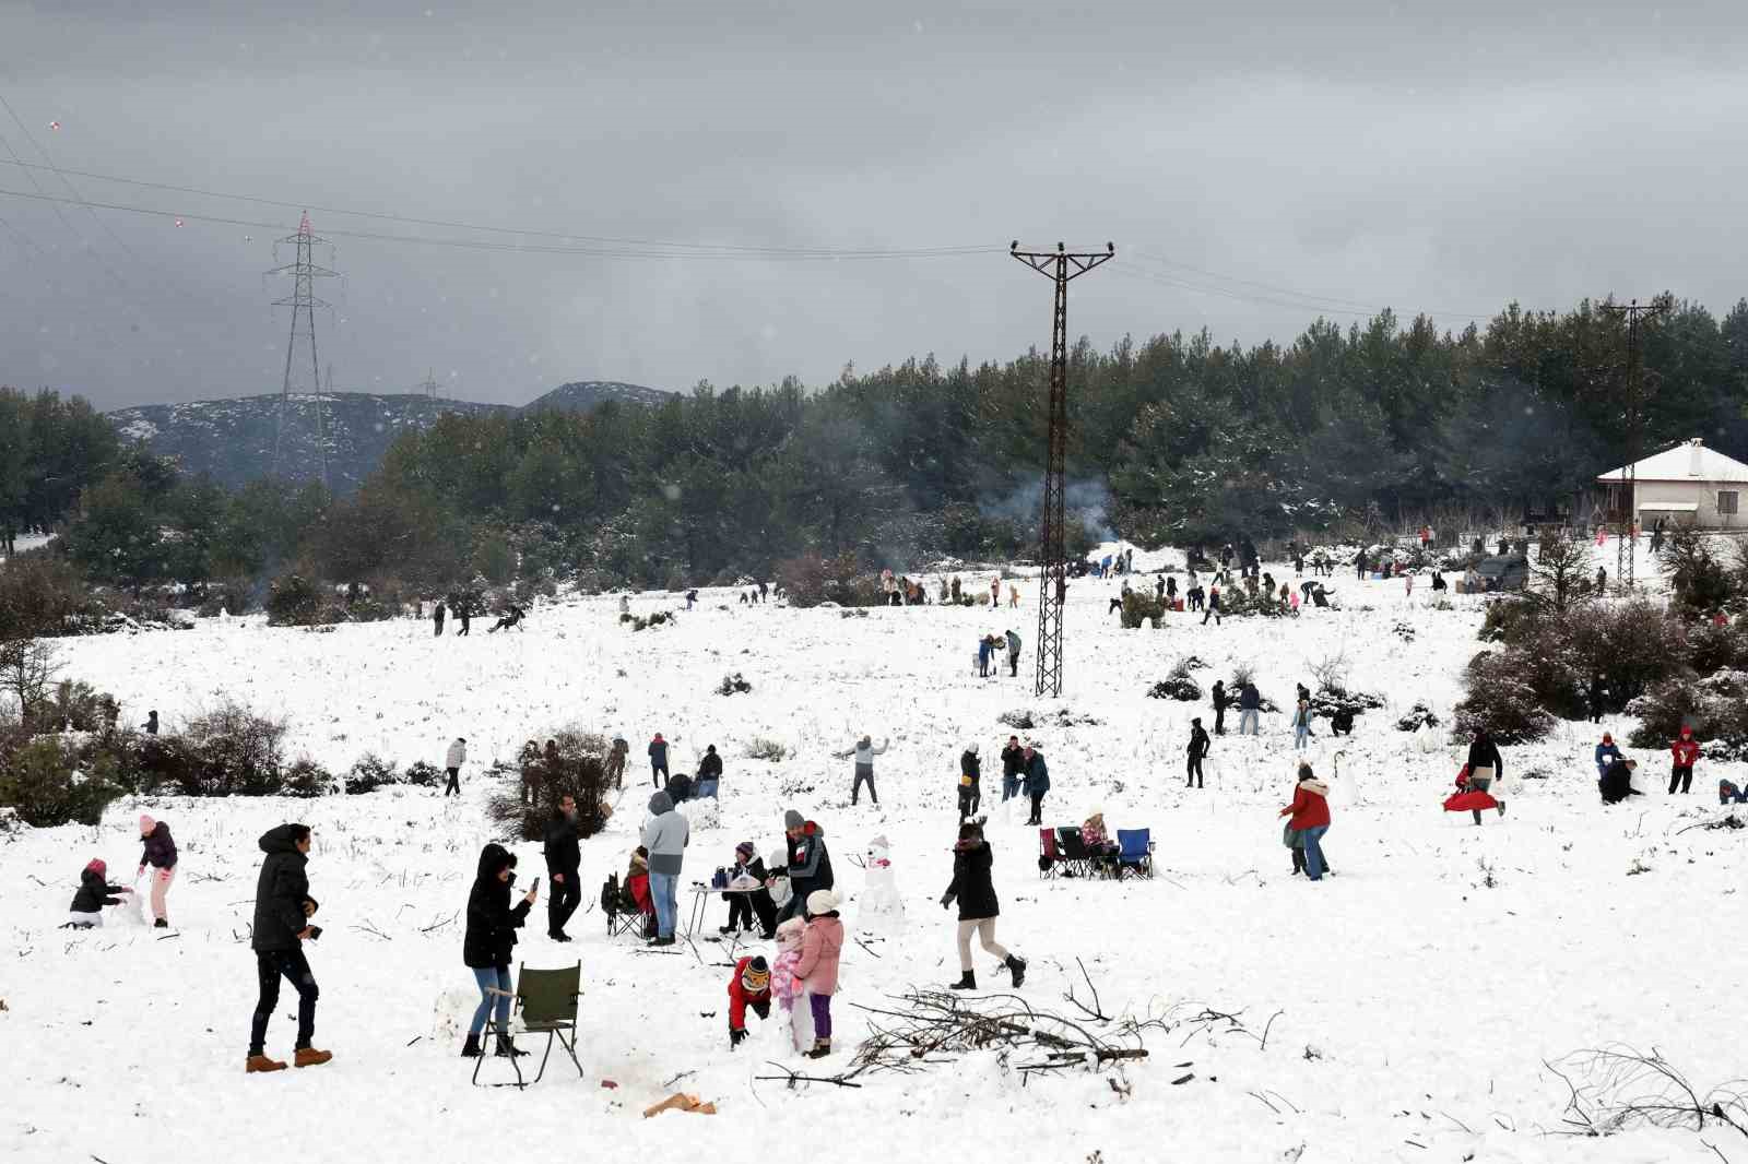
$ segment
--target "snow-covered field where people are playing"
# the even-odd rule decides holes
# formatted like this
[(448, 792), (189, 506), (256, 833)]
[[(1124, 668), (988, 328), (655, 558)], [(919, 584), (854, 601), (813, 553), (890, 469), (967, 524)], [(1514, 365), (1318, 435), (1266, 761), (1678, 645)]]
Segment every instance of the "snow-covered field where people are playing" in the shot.
[[(1612, 573), (1612, 547), (1603, 554)], [(1290, 577), (1290, 566), (1274, 573)], [(619, 626), (615, 599), (586, 599), (540, 606), (526, 633), (488, 636), (477, 624), (467, 640), (434, 640), (421, 622), (313, 634), (248, 619), (63, 643), (66, 673), (112, 690), (129, 717), (157, 708), (173, 729), (229, 694), (290, 717), (294, 752), (336, 771), (365, 750), (400, 766), (439, 762), (461, 734), (477, 773), (563, 725), (624, 731), (633, 764), (622, 811), (584, 842), (589, 912), (572, 921), (579, 940), (549, 942), (542, 904), (517, 947), (530, 965), (582, 960), (587, 1078), (554, 1066), (524, 1096), (470, 1087), (456, 1057), (474, 1001), (458, 914), (489, 837), (482, 779), (447, 804), (430, 790), (129, 800), (100, 828), (0, 842), (0, 933), (17, 951), (0, 961), (0, 1152), (110, 1164), (191, 1148), (208, 1159), (406, 1161), (580, 1143), (607, 1159), (633, 1159), (629, 1148), (703, 1161), (780, 1152), (774, 1120), (785, 1119), (778, 1134), (804, 1136), (809, 1157), (850, 1161), (893, 1159), (895, 1131), (898, 1159), (1713, 1161), (1708, 1143), (1748, 1159), (1748, 1141), (1729, 1129), (1561, 1136), (1566, 1089), (1543, 1066), (1620, 1040), (1655, 1045), (1701, 1085), (1743, 1075), (1731, 998), (1748, 980), (1748, 839), (1682, 832), (1722, 814), (1708, 792), (1718, 766), (1701, 769), (1692, 797), (1669, 799), (1657, 786), (1666, 759), (1641, 757), (1650, 795), (1606, 809), (1594, 797), (1594, 732), (1566, 725), (1545, 745), (1507, 750), (1509, 814), (1475, 828), (1439, 807), (1460, 752), (1442, 732), (1405, 734), (1393, 722), (1416, 701), (1449, 715), (1460, 668), (1479, 647), (1477, 605), (1433, 610), (1425, 579), (1407, 605), (1400, 582), (1337, 577), (1341, 612), (1220, 627), (1182, 615), (1162, 631), (1120, 631), (1105, 613), (1117, 587), (1070, 589), (1059, 704), (1028, 694), (1031, 585), (1012, 613), (930, 606), (844, 619), (743, 608), (732, 592), (706, 591), (676, 626), (636, 634)], [(633, 608), (680, 605), (647, 596)], [(1412, 641), (1393, 633), (1398, 622)], [(1026, 640), (1021, 678), (979, 680), (975, 638), (1009, 626)], [(1295, 760), (1285, 715), (1264, 717), (1260, 739), (1218, 739), (1208, 788), (1187, 792), (1189, 717), (1211, 725), (1211, 713), (1143, 692), (1173, 659), (1196, 654), (1210, 664), (1196, 673), (1204, 689), (1252, 661), (1264, 694), (1287, 704), (1294, 682), (1311, 682), (1309, 666), (1337, 652), (1351, 659), (1349, 685), (1388, 706), (1362, 717), (1339, 752), (1327, 734), (1309, 752), (1334, 781), (1327, 853), (1337, 876), (1308, 884), (1288, 877), (1276, 820)], [(753, 692), (713, 694), (731, 671)], [(951, 869), (958, 753), (982, 746), (984, 790), (998, 795), (1009, 729), (996, 717), (1054, 706), (1098, 722), (1023, 732), (1051, 760), (1045, 816), (1079, 823), (1101, 807), (1113, 828), (1152, 827), (1161, 876), (1040, 881), (1035, 830), (996, 804), (1000, 937), (1031, 960), (1024, 994), (1066, 1008), (1082, 958), (1110, 1014), (1182, 1019), (1206, 1005), (1239, 1014), (1252, 1031), (1267, 1026), (1266, 1045), (1192, 1026), (1154, 1035), (1152, 1059), (1122, 1073), (1127, 1094), (1105, 1075), (1026, 1084), (993, 1052), (914, 1077), (867, 1077), (857, 1091), (792, 1094), (753, 1080), (773, 1073), (767, 1061), (801, 1063), (776, 1024), (753, 1021), (752, 1042), (729, 1050), (720, 947), (647, 953), (601, 932), (593, 898), (636, 844), (649, 788), (638, 760), (654, 731), (675, 741), (676, 771), (690, 771), (706, 743), (727, 764), (720, 825), (694, 832), (687, 879), (729, 863), (741, 839), (760, 853), (778, 848), (783, 809), (799, 807), (827, 830), (855, 933), (862, 870), (851, 855), (886, 835), (907, 925), (846, 946), (839, 1052), (809, 1064), (829, 1073), (865, 1031), (857, 1003), (956, 977), (951, 916), (937, 898)], [(1622, 736), (1629, 724), (1605, 727)], [(829, 757), (864, 731), (891, 739), (877, 762), (879, 807), (850, 807), (850, 767)], [(790, 759), (745, 759), (755, 738), (785, 743)], [(1535, 769), (1545, 779), (1521, 779)], [(142, 807), (168, 820), (182, 846), (177, 928), (161, 935), (121, 918), (86, 937), (58, 932), (86, 860), (101, 855), (122, 879), (131, 874)], [(250, 1078), (241, 1064), (255, 994), (255, 837), (283, 820), (316, 834), (309, 876), (327, 925), (309, 949), (323, 989), (316, 1043), (336, 1059)], [(517, 851), (524, 876), (540, 869), (538, 846)], [(724, 914), (713, 900), (711, 933)], [(1002, 979), (984, 958), (979, 975), (986, 986)], [(285, 991), (269, 1052), (288, 1054), (290, 1010)], [(675, 1089), (713, 1099), (720, 1113), (642, 1119)]]

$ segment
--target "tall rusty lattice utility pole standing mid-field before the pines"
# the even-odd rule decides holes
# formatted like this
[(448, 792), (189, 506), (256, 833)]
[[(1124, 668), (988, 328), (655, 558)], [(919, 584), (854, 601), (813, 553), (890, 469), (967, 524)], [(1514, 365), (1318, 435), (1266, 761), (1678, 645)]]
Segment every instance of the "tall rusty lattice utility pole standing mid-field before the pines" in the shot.
[(1056, 283), (1051, 323), (1051, 451), (1044, 468), (1044, 519), (1038, 545), (1044, 572), (1038, 579), (1038, 683), (1037, 694), (1063, 694), (1063, 603), (1068, 599), (1068, 554), (1063, 547), (1063, 498), (1068, 475), (1068, 283), (1117, 255), (1113, 243), (1103, 252), (1021, 250), (1009, 253)]

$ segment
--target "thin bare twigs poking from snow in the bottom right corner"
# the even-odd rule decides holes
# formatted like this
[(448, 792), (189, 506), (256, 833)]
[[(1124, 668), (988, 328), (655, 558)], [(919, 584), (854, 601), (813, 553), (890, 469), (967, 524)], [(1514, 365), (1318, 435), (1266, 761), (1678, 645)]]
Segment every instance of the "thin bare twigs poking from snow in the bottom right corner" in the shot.
[(1748, 1136), (1748, 1091), (1741, 1080), (1701, 1094), (1655, 1047), (1613, 1043), (1575, 1050), (1543, 1066), (1566, 1085), (1566, 1126), (1582, 1136), (1612, 1136), (1634, 1127), (1706, 1131), (1734, 1127)]

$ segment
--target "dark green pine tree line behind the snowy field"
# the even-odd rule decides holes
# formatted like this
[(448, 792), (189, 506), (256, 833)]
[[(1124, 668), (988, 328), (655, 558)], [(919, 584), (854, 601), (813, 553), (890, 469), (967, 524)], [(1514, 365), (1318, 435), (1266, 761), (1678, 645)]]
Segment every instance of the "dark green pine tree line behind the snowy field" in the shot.
[[(1439, 330), (1379, 313), (1290, 344), (1208, 332), (1070, 353), (1070, 477), (1084, 545), (1316, 535), (1440, 505), (1570, 509), (1626, 458), (1626, 330), (1605, 304), (1510, 306)], [(1748, 301), (1669, 295), (1643, 332), (1645, 449), (1748, 456)], [(351, 496), (227, 491), (124, 444), (82, 400), (0, 390), (0, 521), (65, 523), (65, 552), (122, 587), (285, 570), (437, 592), (484, 577), (690, 585), (787, 558), (1035, 552), (1047, 357), (911, 358), (587, 414), (444, 416)]]

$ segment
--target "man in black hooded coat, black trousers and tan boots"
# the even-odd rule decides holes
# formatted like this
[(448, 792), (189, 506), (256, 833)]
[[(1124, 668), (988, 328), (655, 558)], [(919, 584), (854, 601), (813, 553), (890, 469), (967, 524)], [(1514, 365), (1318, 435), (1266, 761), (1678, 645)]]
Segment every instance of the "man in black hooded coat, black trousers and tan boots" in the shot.
[(304, 940), (322, 937), (322, 928), (309, 925), (316, 914), (316, 900), (309, 897), (311, 832), (308, 825), (278, 825), (260, 835), (260, 877), (255, 883), (255, 926), (250, 946), (255, 951), (255, 972), (260, 998), (255, 1001), (255, 1019), (248, 1029), (248, 1063), (245, 1071), (283, 1071), (285, 1064), (266, 1054), (267, 1021), (280, 1005), (280, 979), (297, 989), (297, 1066), (316, 1066), (334, 1056), (311, 1045), (316, 1028), (316, 989), (309, 960), (304, 958)]

